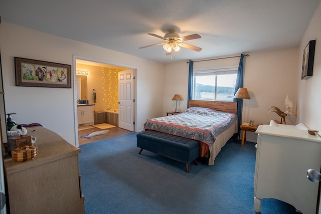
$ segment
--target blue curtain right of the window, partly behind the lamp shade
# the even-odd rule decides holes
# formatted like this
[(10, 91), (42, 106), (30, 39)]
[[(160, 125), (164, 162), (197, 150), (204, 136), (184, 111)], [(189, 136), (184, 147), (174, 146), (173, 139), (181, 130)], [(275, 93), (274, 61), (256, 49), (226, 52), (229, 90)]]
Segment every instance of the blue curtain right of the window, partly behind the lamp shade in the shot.
[[(240, 58), (240, 63), (239, 63), (239, 68), (237, 70), (237, 77), (236, 77), (236, 84), (235, 84), (235, 91), (234, 94), (236, 93), (236, 91), (239, 89), (239, 87), (243, 87), (243, 53), (241, 54), (241, 58)], [(237, 117), (238, 117), (238, 129), (237, 129), (237, 133), (238, 135), (240, 134), (240, 125), (242, 122), (242, 105), (243, 105), (243, 99), (237, 99), (234, 98), (233, 101), (237, 101)]]

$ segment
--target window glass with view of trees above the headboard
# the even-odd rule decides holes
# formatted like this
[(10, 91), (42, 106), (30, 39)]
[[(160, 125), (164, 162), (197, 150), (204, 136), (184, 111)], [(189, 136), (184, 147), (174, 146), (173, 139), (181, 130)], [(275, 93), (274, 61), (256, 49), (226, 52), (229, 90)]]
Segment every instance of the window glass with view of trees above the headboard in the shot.
[(194, 99), (233, 101), (236, 73), (194, 76)]

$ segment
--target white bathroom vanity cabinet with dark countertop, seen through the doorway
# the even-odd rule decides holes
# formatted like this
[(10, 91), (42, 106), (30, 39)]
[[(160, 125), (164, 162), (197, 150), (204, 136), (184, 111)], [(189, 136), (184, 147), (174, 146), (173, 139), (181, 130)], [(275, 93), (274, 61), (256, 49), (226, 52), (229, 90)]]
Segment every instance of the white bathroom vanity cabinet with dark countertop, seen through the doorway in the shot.
[(94, 124), (94, 104), (77, 104), (78, 126)]

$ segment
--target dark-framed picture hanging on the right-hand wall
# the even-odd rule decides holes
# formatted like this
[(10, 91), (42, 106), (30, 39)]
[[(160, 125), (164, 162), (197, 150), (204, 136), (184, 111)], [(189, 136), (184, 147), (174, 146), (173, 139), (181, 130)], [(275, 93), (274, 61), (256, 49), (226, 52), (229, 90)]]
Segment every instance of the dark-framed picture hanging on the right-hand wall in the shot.
[(307, 79), (313, 74), (315, 40), (310, 40), (303, 50), (301, 79)]

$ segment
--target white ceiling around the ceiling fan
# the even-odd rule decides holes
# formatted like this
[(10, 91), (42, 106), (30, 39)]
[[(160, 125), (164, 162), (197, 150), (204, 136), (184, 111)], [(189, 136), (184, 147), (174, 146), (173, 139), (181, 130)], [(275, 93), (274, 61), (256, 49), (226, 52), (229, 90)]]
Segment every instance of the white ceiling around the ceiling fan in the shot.
[[(1, 0), (2, 21), (170, 63), (297, 46), (320, 0)], [(202, 38), (166, 56), (175, 29)]]

